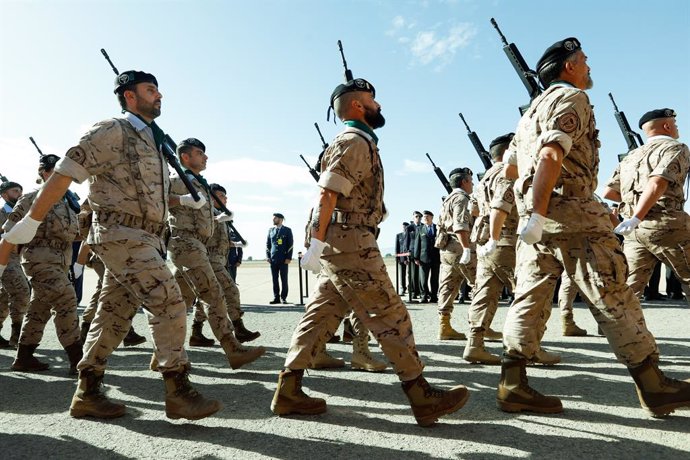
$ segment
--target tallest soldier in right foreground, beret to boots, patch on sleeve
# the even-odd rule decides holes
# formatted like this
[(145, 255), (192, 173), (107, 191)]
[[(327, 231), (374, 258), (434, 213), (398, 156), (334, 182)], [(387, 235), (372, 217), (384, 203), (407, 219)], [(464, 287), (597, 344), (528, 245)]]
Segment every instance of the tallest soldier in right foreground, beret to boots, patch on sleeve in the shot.
[[(544, 299), (567, 271), (637, 385), (642, 406), (655, 416), (690, 406), (690, 382), (658, 369), (658, 352), (638, 298), (625, 283), (625, 257), (606, 208), (594, 197), (599, 140), (586, 56), (575, 38), (549, 47), (537, 63), (547, 89), (520, 119), (510, 150), (516, 153), (520, 214), (515, 302), (503, 330), (505, 347), (497, 404), (504, 411), (555, 413), (560, 399), (527, 381), (525, 365), (539, 350)], [(550, 302), (549, 302), (550, 305)]]

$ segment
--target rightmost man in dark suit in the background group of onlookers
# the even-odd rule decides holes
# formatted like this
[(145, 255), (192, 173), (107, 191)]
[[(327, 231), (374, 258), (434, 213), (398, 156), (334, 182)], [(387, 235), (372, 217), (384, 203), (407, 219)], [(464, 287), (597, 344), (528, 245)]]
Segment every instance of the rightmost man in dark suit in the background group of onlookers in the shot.
[(420, 284), (424, 297), (422, 303), (438, 302), (438, 275), (441, 270), (441, 251), (434, 246), (438, 229), (434, 213), (424, 211), (424, 225), (415, 239), (415, 264), (422, 269)]

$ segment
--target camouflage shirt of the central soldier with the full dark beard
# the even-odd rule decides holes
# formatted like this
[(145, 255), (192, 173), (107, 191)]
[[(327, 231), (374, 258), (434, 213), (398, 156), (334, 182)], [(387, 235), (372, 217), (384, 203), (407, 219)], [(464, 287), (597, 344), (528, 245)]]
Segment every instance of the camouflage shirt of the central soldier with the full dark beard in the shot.
[(326, 232), (324, 255), (375, 248), (381, 222), (383, 165), (373, 138), (348, 127), (331, 142), (321, 160), (319, 186), (338, 194), (335, 213), (348, 222), (333, 222)]

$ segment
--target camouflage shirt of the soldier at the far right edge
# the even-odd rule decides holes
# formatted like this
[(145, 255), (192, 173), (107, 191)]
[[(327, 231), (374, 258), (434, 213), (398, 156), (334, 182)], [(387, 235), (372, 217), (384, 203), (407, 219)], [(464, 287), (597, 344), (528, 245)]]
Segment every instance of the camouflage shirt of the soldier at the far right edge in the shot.
[(650, 177), (662, 177), (668, 188), (640, 224), (643, 228), (686, 229), (683, 185), (690, 169), (688, 146), (668, 136), (650, 137), (618, 165), (607, 187), (621, 194), (619, 212), (631, 217)]

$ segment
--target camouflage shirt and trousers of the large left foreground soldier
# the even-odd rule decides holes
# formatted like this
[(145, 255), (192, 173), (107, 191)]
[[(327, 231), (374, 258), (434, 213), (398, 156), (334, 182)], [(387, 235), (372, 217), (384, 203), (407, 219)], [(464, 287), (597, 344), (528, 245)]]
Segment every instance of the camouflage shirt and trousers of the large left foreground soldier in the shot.
[(98, 123), (55, 170), (89, 181), (93, 217), (87, 243), (106, 267), (79, 369), (104, 371), (143, 305), (158, 369), (182, 371), (188, 362), (186, 311), (163, 258), (170, 179), (151, 128), (130, 113)]

